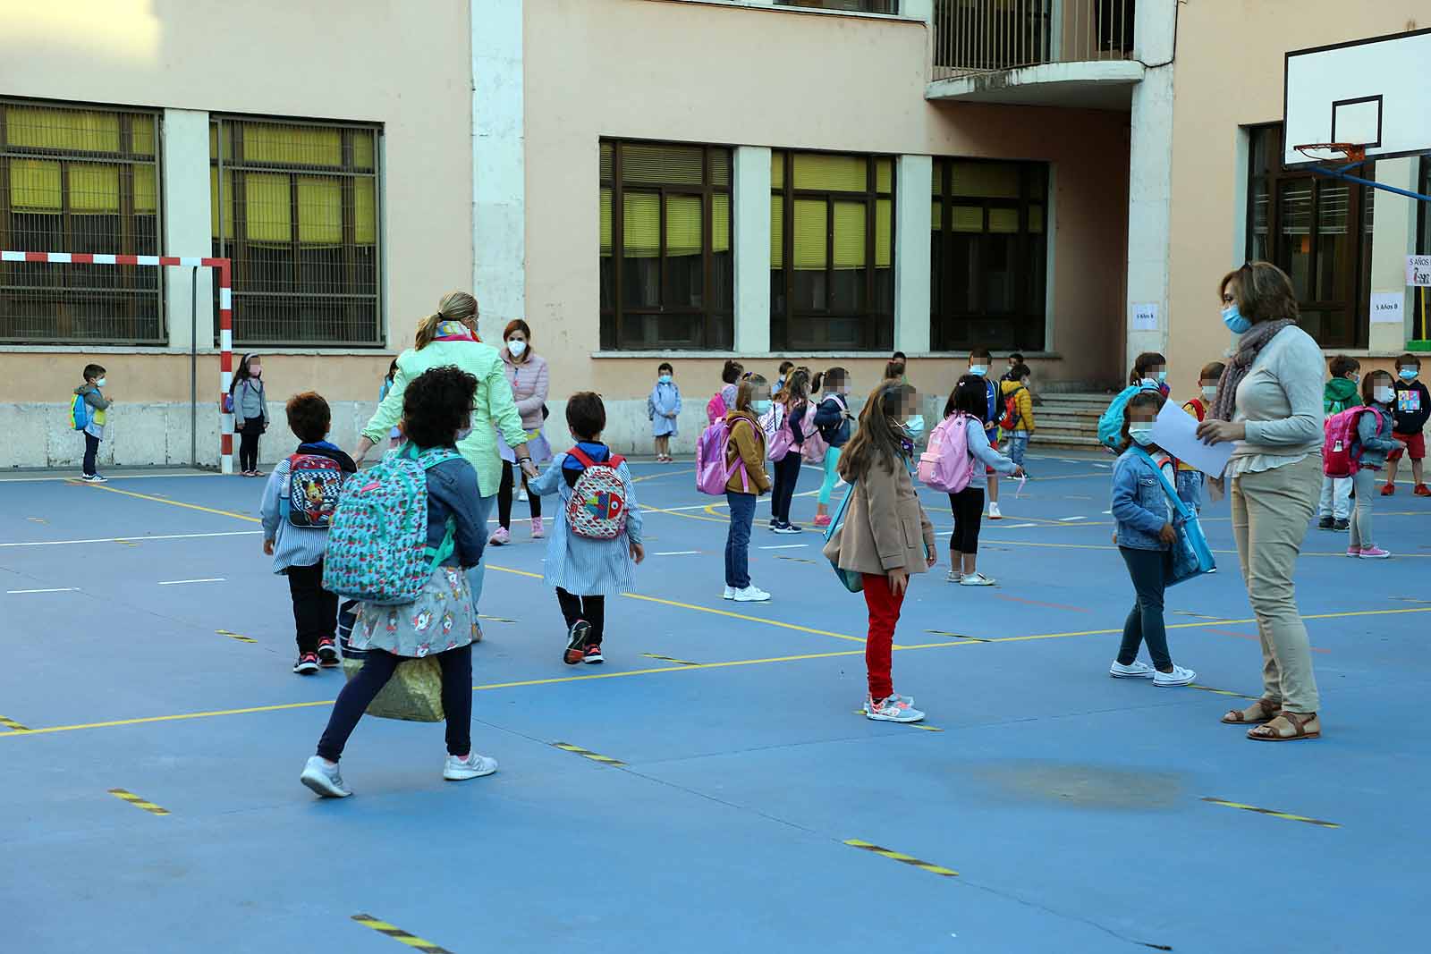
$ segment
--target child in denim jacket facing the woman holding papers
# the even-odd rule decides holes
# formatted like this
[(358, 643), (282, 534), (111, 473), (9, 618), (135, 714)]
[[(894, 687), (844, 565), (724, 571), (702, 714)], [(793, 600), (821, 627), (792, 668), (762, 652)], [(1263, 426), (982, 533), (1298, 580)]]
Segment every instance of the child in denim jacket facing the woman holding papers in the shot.
[[(1192, 669), (1175, 665), (1168, 651), (1163, 625), (1163, 591), (1172, 569), (1173, 508), (1158, 471), (1173, 482), (1172, 458), (1153, 443), (1153, 422), (1165, 398), (1145, 389), (1123, 406), (1123, 443), (1113, 465), (1110, 509), (1118, 528), (1115, 542), (1128, 566), (1138, 599), (1123, 622), (1123, 642), (1108, 674), (1115, 679), (1152, 679), (1156, 687), (1188, 685), (1198, 678)], [(1138, 658), (1148, 645), (1153, 664)]]

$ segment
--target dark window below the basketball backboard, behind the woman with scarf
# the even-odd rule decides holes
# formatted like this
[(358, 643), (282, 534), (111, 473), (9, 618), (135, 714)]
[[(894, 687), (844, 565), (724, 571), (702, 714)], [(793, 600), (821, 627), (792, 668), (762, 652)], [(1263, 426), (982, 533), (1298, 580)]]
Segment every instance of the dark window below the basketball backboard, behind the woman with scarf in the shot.
[[(1291, 276), (1302, 328), (1322, 348), (1365, 348), (1374, 190), (1282, 169), (1281, 124), (1249, 133), (1246, 257)], [(1372, 179), (1374, 166), (1357, 174)]]

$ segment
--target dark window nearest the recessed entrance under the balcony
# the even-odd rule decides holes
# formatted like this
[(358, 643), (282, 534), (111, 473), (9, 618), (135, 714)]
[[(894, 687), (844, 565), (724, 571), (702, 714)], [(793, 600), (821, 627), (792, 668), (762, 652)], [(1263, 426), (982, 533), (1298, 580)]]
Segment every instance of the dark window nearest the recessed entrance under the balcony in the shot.
[(1045, 349), (1047, 202), (1045, 163), (934, 159), (934, 350)]

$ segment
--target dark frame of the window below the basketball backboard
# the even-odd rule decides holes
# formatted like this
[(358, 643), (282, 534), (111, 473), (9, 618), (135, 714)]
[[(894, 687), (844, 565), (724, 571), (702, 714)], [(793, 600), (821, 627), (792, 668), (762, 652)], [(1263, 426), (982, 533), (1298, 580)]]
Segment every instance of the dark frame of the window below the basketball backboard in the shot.
[[(1258, 185), (1265, 183), (1268, 203), (1265, 237), (1266, 260), (1286, 272), (1292, 277), (1295, 289), (1296, 277), (1292, 275), (1291, 249), (1282, 239), (1282, 186), (1294, 182), (1308, 183), (1311, 186), (1311, 206), (1308, 210), (1311, 226), (1308, 229), (1307, 256), (1312, 265), (1312, 275), (1309, 277), (1311, 289), (1308, 296), (1304, 297), (1302, 289), (1295, 289), (1298, 293), (1298, 308), (1302, 312), (1335, 312), (1342, 318), (1351, 319), (1351, 336), (1327, 336), (1321, 333), (1315, 336), (1317, 343), (1321, 345), (1322, 349), (1347, 350), (1367, 348), (1371, 336), (1369, 279), (1372, 232), (1365, 227), (1365, 206), (1368, 202), (1374, 202), (1371, 195), (1372, 189), (1369, 186), (1358, 186), (1357, 183), (1318, 176), (1309, 169), (1286, 169), (1282, 166), (1281, 123), (1249, 126), (1246, 130), (1248, 190), (1245, 257), (1254, 257), (1254, 243), (1258, 239), (1258, 233), (1255, 230)], [(1266, 136), (1264, 150), (1266, 162), (1262, 169), (1258, 169), (1256, 166), (1258, 136)], [(1375, 179), (1375, 166), (1372, 163), (1367, 163), (1358, 169), (1355, 174), (1364, 179)], [(1322, 285), (1319, 280), (1321, 276), (1315, 273), (1315, 269), (1319, 267), (1321, 253), (1319, 219), (1327, 190), (1337, 187), (1347, 189), (1347, 235), (1351, 240), (1344, 243), (1334, 267), (1337, 269), (1335, 280), (1342, 283), (1342, 289), (1347, 290), (1347, 293), (1331, 299), (1319, 299), (1315, 297)], [(1348, 273), (1351, 275), (1349, 279), (1347, 277)], [(1347, 286), (1348, 280), (1349, 287)]]

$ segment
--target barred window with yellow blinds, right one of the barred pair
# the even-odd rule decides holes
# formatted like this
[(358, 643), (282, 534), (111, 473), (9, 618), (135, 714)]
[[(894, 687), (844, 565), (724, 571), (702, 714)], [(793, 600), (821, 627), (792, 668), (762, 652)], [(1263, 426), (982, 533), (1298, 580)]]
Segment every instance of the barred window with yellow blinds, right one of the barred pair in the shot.
[[(233, 340), (382, 346), (372, 126), (209, 127), (213, 253), (233, 259)], [(222, 227), (220, 227), (222, 222)]]

